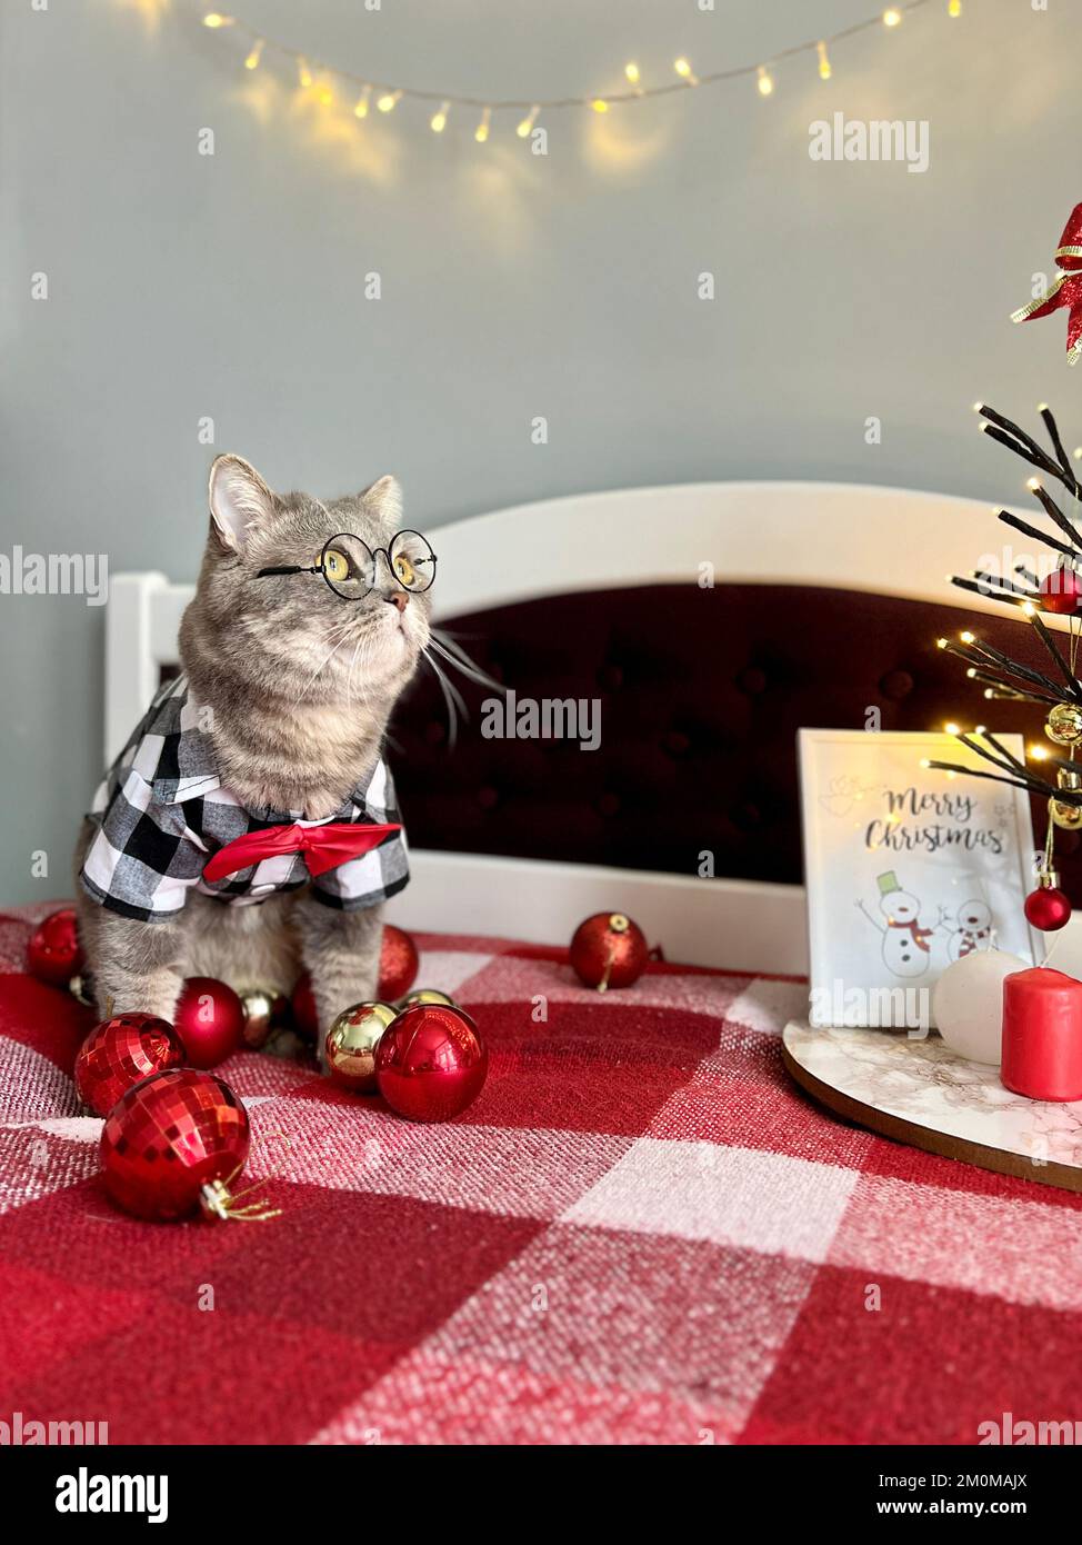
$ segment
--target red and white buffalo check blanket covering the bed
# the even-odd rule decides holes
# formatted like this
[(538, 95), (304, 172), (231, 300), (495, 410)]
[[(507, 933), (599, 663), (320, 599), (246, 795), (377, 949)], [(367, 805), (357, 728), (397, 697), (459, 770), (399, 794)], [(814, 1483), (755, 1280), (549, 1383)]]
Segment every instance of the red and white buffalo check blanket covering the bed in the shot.
[[(800, 981), (421, 936), (491, 1071), (417, 1126), (312, 1065), (219, 1072), (267, 1224), (140, 1224), (69, 1072), (90, 1012), (0, 919), (0, 1418), (113, 1443), (959, 1443), (1076, 1420), (1082, 1197), (835, 1120)], [(279, 1134), (289, 1139), (284, 1149)], [(208, 1293), (208, 1290), (211, 1290)], [(213, 1309), (208, 1304), (213, 1302)]]

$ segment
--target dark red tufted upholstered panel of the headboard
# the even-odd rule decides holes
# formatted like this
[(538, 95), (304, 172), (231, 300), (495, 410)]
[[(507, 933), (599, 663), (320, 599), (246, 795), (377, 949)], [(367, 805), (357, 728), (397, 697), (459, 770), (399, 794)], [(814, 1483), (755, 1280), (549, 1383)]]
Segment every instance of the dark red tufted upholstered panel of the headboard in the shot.
[[(599, 697), (602, 740), (486, 740), (483, 689), (454, 751), (421, 669), (394, 723), (391, 760), (411, 844), (696, 874), (801, 881), (796, 731), (966, 726), (1043, 740), (1031, 705), (985, 701), (938, 635), (974, 626), (1039, 660), (1025, 624), (863, 593), (773, 586), (658, 586), (563, 595), (443, 624), (519, 698)], [(1045, 811), (1034, 806), (1037, 834)], [(1074, 833), (1057, 833), (1082, 899)]]

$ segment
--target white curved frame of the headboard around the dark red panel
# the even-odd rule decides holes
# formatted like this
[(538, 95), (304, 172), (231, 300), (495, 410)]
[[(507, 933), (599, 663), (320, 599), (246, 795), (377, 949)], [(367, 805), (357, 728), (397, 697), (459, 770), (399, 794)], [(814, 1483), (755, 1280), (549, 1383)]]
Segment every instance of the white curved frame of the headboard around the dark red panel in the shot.
[[(684, 484), (548, 499), (429, 535), (440, 561), (437, 620), (570, 590), (701, 584), (708, 576), (704, 565), (713, 565), (719, 584), (823, 586), (999, 612), (997, 603), (951, 586), (949, 575), (972, 570), (982, 555), (1009, 547), (1014, 536), (972, 499), (807, 482)], [(161, 573), (113, 578), (107, 760), (144, 714), (161, 667), (176, 663), (191, 590)], [(526, 913), (517, 908), (514, 918), (520, 938), (562, 942), (587, 913), (619, 907), (634, 913), (651, 938), (671, 938), (670, 949), (679, 947), (693, 964), (807, 969), (798, 887), (423, 850), (412, 859), (412, 884), (391, 908), (406, 925), (505, 932), (505, 887), (528, 879), (519, 890), (528, 898)], [(729, 941), (724, 949), (719, 939)]]

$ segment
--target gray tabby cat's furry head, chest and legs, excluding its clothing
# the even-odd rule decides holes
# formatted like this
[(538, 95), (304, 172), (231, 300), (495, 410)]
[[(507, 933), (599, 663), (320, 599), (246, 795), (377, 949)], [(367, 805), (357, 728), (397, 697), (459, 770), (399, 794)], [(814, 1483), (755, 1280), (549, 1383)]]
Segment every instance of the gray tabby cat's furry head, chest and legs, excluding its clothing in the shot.
[[(392, 477), (321, 504), (275, 494), (247, 462), (219, 456), (210, 473), (210, 533), (181, 626), (181, 666), (207, 723), (221, 782), (245, 811), (332, 816), (378, 763), (387, 717), (429, 641), (431, 598), (407, 593), (377, 556), (374, 589), (343, 599), (310, 573), (261, 569), (316, 562), (338, 533), (389, 548), (401, 494)], [(76, 870), (97, 834), (83, 823)], [(312, 973), (321, 1031), (377, 990), (381, 907), (318, 904), (309, 888), (258, 905), (227, 905), (191, 888), (182, 910), (139, 921), (76, 887), (79, 930), (99, 1014), (173, 1018), (185, 976), (238, 990), (289, 992)]]

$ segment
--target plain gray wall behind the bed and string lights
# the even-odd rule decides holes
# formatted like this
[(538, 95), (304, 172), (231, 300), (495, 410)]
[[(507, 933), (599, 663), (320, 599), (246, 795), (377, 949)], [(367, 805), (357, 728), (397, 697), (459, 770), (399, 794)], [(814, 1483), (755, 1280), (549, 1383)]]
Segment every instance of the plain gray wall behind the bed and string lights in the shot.
[[(647, 79), (681, 51), (725, 68), (875, 8), (236, 0), (315, 57), (506, 96), (616, 88), (628, 57)], [(508, 122), (483, 150), (457, 116), (437, 139), (406, 104), (341, 136), (247, 76), (239, 39), (199, 9), (3, 6), (3, 552), (191, 578), (201, 416), (282, 487), (397, 471), (421, 527), (713, 477), (1016, 497), (1017, 464), (974, 431), (980, 396), (1026, 416), (1046, 397), (1082, 437), (1063, 318), (1006, 320), (1082, 196), (1077, 0), (965, 0), (959, 22), (928, 0), (895, 32), (840, 43), (826, 85), (806, 57), (776, 68), (769, 102), (742, 80), (604, 121), (553, 114), (546, 158)], [(929, 170), (810, 162), (809, 122), (833, 110), (928, 119)], [(29, 298), (39, 270), (48, 301)], [(68, 888), (100, 772), (102, 623), (76, 596), (0, 596), (6, 902)]]

